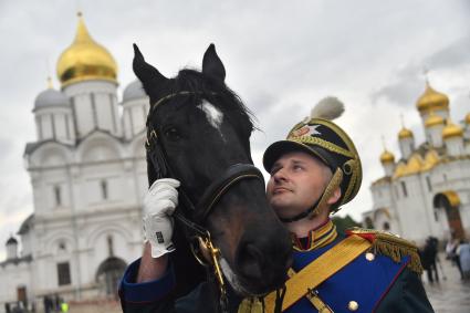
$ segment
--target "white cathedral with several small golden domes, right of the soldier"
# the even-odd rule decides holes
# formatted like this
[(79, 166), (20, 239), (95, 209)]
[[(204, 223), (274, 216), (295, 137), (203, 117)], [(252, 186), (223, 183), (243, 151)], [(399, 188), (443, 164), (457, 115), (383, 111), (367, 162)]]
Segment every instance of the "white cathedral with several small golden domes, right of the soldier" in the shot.
[(441, 241), (470, 234), (470, 113), (450, 119), (449, 97), (427, 82), (416, 107), (425, 138), (415, 143), (405, 126), (398, 133), (400, 158), (385, 149), (385, 176), (370, 186), (373, 209), (363, 223), (397, 233), (422, 246), (429, 236)]

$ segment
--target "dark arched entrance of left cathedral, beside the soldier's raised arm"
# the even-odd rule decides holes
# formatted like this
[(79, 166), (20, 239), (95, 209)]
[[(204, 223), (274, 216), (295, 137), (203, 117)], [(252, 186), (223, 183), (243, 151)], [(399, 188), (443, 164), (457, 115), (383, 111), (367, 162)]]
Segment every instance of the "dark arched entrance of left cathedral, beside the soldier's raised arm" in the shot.
[(126, 262), (116, 257), (104, 260), (96, 271), (101, 294), (117, 298), (117, 285), (126, 269)]

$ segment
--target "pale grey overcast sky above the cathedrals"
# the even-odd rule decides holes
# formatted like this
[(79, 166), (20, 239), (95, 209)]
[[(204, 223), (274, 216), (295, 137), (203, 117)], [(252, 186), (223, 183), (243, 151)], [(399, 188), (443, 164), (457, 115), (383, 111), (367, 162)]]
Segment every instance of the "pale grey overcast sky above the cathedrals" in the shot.
[(397, 157), (399, 115), (422, 142), (416, 100), (431, 85), (450, 98), (455, 122), (470, 112), (470, 1), (102, 1), (0, 0), (0, 260), (10, 233), (33, 211), (23, 150), (35, 139), (31, 109), (59, 83), (55, 65), (82, 10), (92, 36), (119, 66), (121, 98), (134, 80), (132, 43), (167, 76), (200, 67), (216, 44), (227, 83), (258, 117), (253, 157), (327, 95), (346, 106), (337, 119), (356, 143), (364, 180), (343, 208), (357, 220), (383, 176), (380, 136)]

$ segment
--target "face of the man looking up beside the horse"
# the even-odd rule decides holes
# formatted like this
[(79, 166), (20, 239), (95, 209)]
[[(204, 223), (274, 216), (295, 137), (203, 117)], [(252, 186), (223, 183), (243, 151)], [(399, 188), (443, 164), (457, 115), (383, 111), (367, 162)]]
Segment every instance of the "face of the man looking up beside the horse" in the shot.
[(268, 200), (281, 218), (294, 217), (312, 207), (332, 176), (323, 163), (303, 152), (282, 155), (270, 174)]

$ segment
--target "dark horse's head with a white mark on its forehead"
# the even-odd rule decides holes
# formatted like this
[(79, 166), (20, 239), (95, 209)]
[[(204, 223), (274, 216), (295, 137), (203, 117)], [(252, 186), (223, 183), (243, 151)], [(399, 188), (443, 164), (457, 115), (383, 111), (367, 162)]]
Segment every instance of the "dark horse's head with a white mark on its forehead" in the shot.
[[(174, 79), (161, 75), (134, 48), (134, 72), (150, 98), (147, 127), (156, 131), (165, 155), (148, 149), (149, 182), (175, 176), (187, 198), (200, 204), (229, 168), (252, 164), (250, 115), (226, 86), (226, 71), (213, 44), (203, 55), (201, 72), (181, 70)], [(161, 158), (167, 159), (170, 174)], [(267, 201), (262, 179), (241, 179), (223, 189), (209, 211), (202, 213), (198, 210), (207, 208), (196, 206), (189, 218), (211, 233), (221, 251), (222, 272), (236, 291), (261, 294), (279, 288), (290, 264), (291, 242)]]

